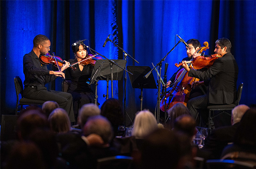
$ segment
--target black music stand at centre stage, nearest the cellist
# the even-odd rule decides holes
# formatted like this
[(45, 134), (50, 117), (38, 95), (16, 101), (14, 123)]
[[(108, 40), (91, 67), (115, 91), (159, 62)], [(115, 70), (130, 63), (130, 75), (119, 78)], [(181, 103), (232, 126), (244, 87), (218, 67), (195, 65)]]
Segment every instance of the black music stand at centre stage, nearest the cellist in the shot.
[(149, 66), (127, 66), (127, 70), (133, 75), (129, 74), (132, 88), (140, 89), (140, 111), (142, 110), (143, 89), (157, 89), (154, 76), (151, 73), (148, 78), (144, 76), (151, 70)]

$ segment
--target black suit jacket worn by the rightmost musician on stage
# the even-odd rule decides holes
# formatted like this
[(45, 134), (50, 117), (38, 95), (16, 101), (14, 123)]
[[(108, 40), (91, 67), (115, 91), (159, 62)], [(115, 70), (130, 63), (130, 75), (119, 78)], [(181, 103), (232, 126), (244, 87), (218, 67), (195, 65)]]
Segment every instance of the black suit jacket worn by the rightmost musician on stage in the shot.
[(216, 59), (207, 71), (190, 69), (188, 75), (202, 80), (210, 78), (207, 91), (208, 103), (231, 104), (236, 100), (238, 66), (231, 53)]

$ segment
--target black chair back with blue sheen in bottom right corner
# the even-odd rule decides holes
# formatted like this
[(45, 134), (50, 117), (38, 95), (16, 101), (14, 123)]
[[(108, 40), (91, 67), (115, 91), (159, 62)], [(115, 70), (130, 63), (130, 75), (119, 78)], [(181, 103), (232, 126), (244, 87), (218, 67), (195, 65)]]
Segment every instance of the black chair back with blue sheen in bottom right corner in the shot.
[(207, 169), (256, 169), (256, 166), (236, 160), (207, 160)]

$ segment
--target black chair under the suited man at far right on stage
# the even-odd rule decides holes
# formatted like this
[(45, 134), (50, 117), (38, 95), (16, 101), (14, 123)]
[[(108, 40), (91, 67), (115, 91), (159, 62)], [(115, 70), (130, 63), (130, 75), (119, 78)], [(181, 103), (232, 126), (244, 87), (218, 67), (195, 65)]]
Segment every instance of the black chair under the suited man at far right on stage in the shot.
[[(213, 120), (214, 117), (220, 115), (221, 113), (226, 113), (227, 115), (230, 115), (230, 113), (227, 113), (226, 111), (232, 111), (234, 107), (239, 105), (239, 102), (241, 100), (241, 95), (242, 95), (242, 90), (243, 90), (244, 83), (241, 83), (239, 85), (239, 88), (237, 90), (237, 95), (236, 95), (236, 101), (232, 104), (228, 105), (212, 105), (212, 106), (207, 106), (207, 109), (209, 110), (209, 117), (208, 117), (208, 128), (210, 129), (211, 132), (211, 121)], [(214, 115), (214, 111), (221, 111), (218, 114)], [(213, 112), (213, 113), (212, 113)]]

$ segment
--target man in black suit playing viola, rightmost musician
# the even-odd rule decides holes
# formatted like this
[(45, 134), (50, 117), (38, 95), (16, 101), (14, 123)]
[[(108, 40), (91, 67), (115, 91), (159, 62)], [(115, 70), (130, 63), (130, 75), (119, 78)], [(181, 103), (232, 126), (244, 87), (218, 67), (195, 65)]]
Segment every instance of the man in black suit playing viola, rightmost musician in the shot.
[[(208, 121), (208, 112), (198, 110), (204, 110), (208, 105), (231, 104), (236, 100), (238, 66), (231, 54), (230, 40), (227, 38), (216, 40), (214, 52), (221, 54), (222, 57), (216, 59), (212, 66), (204, 72), (190, 69), (187, 63), (182, 61), (184, 69), (189, 72), (189, 77), (196, 77), (201, 80), (209, 79), (207, 93), (187, 102), (192, 117), (196, 117), (199, 113), (205, 124)], [(195, 57), (198, 57), (198, 54), (193, 54), (193, 58)]]

